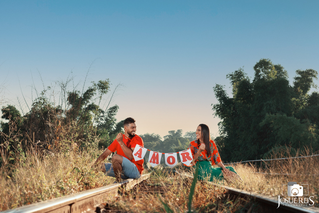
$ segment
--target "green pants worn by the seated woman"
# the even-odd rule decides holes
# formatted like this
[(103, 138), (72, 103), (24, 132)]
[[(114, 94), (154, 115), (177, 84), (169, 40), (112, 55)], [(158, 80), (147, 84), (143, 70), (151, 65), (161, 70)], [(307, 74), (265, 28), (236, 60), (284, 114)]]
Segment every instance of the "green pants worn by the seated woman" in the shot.
[[(223, 180), (224, 175), (222, 172), (222, 168), (220, 167), (213, 167), (210, 161), (197, 161), (195, 168), (198, 167), (198, 177), (199, 180), (208, 180), (212, 181), (213, 179)], [(226, 166), (227, 169), (233, 171), (237, 174), (231, 166)]]

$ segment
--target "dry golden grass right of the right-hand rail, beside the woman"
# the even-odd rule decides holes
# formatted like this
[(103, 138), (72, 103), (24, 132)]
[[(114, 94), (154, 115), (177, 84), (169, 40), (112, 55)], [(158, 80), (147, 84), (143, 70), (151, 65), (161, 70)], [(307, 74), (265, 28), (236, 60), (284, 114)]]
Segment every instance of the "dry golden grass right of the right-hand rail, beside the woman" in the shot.
[[(319, 207), (318, 166), (319, 156), (266, 161), (266, 164), (263, 164), (262, 168), (247, 164), (236, 164), (233, 165), (233, 167), (244, 181), (242, 183), (229, 184), (229, 186), (249, 192), (269, 195), (277, 199), (278, 195), (280, 195), (280, 197), (288, 197), (282, 195), (282, 184), (287, 184), (290, 181), (297, 182), (297, 184), (308, 184), (309, 195), (302, 197), (314, 196), (314, 206)], [(306, 188), (307, 187), (304, 187), (304, 194), (307, 194)], [(283, 186), (283, 189), (283, 193), (287, 194), (287, 186)]]

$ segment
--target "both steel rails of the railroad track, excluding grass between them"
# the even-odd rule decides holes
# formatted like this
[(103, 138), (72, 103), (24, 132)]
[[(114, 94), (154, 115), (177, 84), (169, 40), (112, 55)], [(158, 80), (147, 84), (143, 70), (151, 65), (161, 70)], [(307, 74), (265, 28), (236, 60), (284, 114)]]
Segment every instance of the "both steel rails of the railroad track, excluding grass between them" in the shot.
[[(187, 176), (193, 178), (193, 176), (181, 174), (175, 171), (179, 175)], [(4, 211), (4, 213), (18, 213), (18, 212), (62, 212), (62, 213), (75, 213), (75, 212), (109, 212), (116, 211), (117, 209), (112, 209), (103, 204), (106, 200), (106, 196), (113, 195), (114, 197), (118, 195), (118, 192), (123, 193), (132, 189), (135, 185), (141, 181), (150, 177), (150, 174), (144, 174), (140, 179), (128, 179), (121, 183), (116, 183), (97, 189), (91, 189), (84, 192), (66, 195), (61, 198), (56, 198), (44, 202), (34, 203), (31, 205), (23, 206), (16, 209), (11, 209)], [(254, 202), (258, 205), (258, 212), (319, 212), (319, 208), (315, 207), (296, 207), (296, 206), (283, 206), (282, 204), (278, 207), (278, 199), (273, 197), (247, 192), (244, 190), (223, 186), (210, 182), (212, 185), (217, 187), (223, 187), (227, 190), (230, 198), (233, 200), (239, 197), (244, 198), (248, 202)], [(143, 184), (142, 184), (143, 185)], [(138, 189), (138, 193), (145, 194), (164, 194), (170, 188), (169, 185), (165, 186), (142, 186)], [(124, 192), (125, 193), (125, 192)], [(249, 209), (247, 209), (250, 212)]]

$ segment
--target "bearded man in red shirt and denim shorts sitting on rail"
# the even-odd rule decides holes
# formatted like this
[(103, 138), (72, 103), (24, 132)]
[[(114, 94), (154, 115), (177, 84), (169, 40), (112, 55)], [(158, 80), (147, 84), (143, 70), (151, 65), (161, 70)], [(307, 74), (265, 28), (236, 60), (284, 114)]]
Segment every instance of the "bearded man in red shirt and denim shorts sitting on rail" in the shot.
[[(126, 118), (123, 125), (124, 135), (118, 133), (116, 139), (94, 163), (94, 165), (97, 165), (104, 173), (111, 177), (115, 177), (117, 182), (120, 182), (121, 178), (138, 179), (141, 177), (144, 170), (144, 160), (135, 161), (133, 157), (133, 151), (137, 144), (144, 147), (142, 138), (135, 134), (135, 120), (133, 118)], [(117, 154), (112, 156), (112, 164), (102, 162), (115, 151), (117, 151)]]

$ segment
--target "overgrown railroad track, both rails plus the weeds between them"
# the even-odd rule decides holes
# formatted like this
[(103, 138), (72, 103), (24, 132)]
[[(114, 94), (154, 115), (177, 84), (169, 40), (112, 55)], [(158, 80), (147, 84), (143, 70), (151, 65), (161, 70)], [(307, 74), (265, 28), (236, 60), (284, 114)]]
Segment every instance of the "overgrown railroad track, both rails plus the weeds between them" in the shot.
[[(6, 212), (187, 212), (192, 181), (190, 175), (159, 168), (139, 180), (122, 181)], [(207, 181), (197, 181), (193, 193), (191, 209), (195, 212), (319, 212), (314, 207), (277, 209), (278, 200), (270, 196)]]

